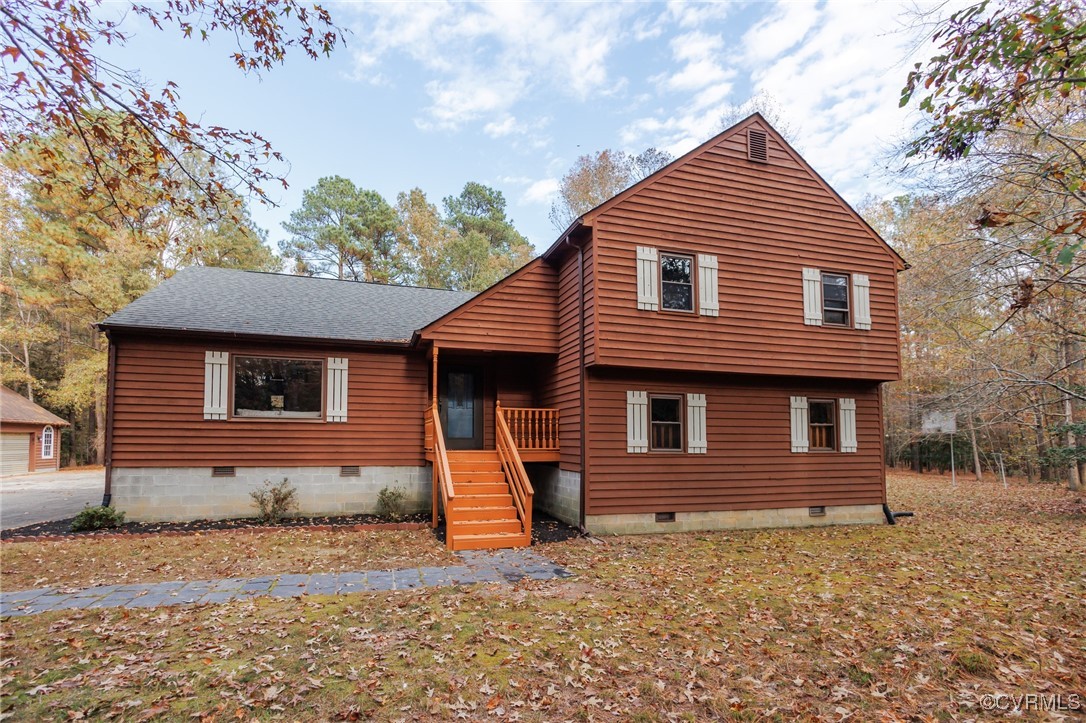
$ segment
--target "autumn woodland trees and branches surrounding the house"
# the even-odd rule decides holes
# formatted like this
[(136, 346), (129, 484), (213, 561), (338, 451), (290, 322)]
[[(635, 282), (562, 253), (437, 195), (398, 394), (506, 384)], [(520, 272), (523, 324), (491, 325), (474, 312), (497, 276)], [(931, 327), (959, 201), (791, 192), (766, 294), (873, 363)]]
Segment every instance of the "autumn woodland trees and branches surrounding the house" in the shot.
[[(285, 12), (285, 9), (289, 9)], [(231, 33), (243, 72), (289, 50), (316, 59), (342, 31), (318, 7), (255, 0), (134, 4), (186, 37)], [(242, 12), (244, 11), (244, 12)], [(858, 211), (909, 263), (899, 276), (904, 376), (887, 384), (887, 461), (977, 477), (1086, 477), (1086, 12), (1068, 1), (981, 2), (938, 23), (939, 54), (908, 78), (922, 115), (898, 149), (907, 194)], [(65, 465), (101, 460), (105, 341), (94, 324), (191, 265), (484, 289), (533, 250), (501, 191), (466, 182), (440, 207), (323, 178), (278, 234), (249, 215), (277, 154), (255, 134), (195, 124), (174, 89), (104, 67), (121, 30), (79, 3), (0, 7), (0, 379), (72, 422)], [(759, 111), (729, 109), (721, 128)], [(666, 165), (655, 149), (584, 155), (551, 211), (556, 233)]]

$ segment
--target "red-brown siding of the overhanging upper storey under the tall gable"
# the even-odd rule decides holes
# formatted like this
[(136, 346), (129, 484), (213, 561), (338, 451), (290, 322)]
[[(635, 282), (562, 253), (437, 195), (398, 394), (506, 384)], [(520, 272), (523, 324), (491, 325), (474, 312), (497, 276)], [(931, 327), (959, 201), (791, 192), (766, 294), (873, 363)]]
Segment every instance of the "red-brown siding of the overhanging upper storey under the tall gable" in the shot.
[[(747, 160), (745, 139), (745, 131), (723, 137), (595, 218), (594, 360), (898, 379), (895, 257), (772, 134), (768, 164)], [(720, 316), (639, 310), (639, 245), (716, 255)], [(805, 267), (867, 274), (871, 330), (805, 325)]]

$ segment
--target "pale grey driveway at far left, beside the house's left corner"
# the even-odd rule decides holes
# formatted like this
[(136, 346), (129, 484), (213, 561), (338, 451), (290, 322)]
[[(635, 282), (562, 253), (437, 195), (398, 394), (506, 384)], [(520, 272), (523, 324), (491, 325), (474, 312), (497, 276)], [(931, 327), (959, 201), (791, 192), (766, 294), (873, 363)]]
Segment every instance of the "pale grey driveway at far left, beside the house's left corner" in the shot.
[(79, 469), (0, 479), (0, 530), (63, 520), (102, 504), (105, 472)]

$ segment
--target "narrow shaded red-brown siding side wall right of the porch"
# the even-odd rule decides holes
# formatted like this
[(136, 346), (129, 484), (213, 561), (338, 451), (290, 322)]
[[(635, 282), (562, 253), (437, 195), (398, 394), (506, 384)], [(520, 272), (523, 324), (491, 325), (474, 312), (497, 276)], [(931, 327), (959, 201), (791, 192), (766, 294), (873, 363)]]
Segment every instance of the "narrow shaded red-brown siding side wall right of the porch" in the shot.
[[(591, 252), (591, 250), (589, 250)], [(585, 259), (589, 255), (585, 254)], [(588, 261), (585, 261), (588, 266)], [(586, 269), (585, 269), (586, 270)], [(558, 356), (541, 366), (539, 404), (559, 411), (558, 436), (561, 469), (581, 470), (581, 357), (578, 351), (581, 329), (578, 309), (578, 255), (568, 253), (560, 261), (558, 275)], [(585, 283), (588, 275), (585, 275)], [(588, 299), (589, 294), (585, 294)]]

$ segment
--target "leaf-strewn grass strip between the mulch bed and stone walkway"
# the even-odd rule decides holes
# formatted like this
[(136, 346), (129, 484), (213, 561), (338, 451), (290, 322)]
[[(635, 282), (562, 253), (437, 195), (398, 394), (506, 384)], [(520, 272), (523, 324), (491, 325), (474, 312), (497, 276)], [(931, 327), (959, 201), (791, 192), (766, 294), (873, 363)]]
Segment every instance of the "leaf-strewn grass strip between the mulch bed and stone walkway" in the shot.
[(458, 563), (429, 530), (239, 531), (143, 540), (76, 538), (0, 545), (0, 588), (89, 587)]

